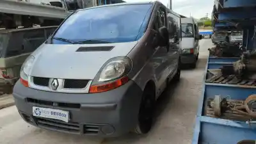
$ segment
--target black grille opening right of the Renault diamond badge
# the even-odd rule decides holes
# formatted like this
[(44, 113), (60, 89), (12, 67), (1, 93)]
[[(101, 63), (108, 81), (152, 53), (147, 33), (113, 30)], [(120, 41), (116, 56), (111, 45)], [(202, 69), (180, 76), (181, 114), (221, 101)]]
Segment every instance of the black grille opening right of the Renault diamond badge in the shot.
[(87, 84), (86, 79), (65, 79), (64, 88), (85, 88)]

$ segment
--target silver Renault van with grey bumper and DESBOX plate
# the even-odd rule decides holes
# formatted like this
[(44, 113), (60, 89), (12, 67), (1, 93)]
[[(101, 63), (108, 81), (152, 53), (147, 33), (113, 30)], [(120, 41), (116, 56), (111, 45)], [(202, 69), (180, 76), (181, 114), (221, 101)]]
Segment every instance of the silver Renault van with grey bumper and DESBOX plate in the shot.
[(13, 97), (37, 127), (97, 136), (150, 131), (180, 77), (180, 16), (162, 3), (77, 10), (24, 62)]

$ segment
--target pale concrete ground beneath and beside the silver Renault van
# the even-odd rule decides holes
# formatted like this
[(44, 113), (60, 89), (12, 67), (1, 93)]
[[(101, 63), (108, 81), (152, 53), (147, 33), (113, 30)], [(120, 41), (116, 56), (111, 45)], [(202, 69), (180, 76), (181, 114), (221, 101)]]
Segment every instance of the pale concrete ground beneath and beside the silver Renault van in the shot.
[(191, 143), (198, 98), (201, 95), (207, 49), (211, 39), (200, 40), (200, 58), (195, 69), (184, 69), (179, 83), (171, 84), (157, 101), (156, 122), (145, 136), (127, 134), (102, 139), (38, 129), (26, 124), (15, 106), (0, 110), (0, 143), (12, 144), (157, 144)]

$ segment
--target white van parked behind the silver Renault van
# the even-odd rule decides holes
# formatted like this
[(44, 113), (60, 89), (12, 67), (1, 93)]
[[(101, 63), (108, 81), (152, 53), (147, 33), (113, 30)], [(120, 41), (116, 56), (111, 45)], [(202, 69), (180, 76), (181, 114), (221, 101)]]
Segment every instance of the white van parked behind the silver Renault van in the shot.
[(199, 35), (197, 23), (192, 17), (181, 18), (181, 29), (181, 63), (195, 68), (199, 55), (199, 40), (202, 39), (202, 35)]

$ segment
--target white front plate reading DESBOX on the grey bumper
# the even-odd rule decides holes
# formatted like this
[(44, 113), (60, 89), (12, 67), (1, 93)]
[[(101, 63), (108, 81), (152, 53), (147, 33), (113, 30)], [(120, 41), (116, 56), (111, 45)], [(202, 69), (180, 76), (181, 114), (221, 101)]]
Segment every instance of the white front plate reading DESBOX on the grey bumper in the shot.
[(56, 120), (61, 120), (63, 122), (68, 122), (69, 113), (68, 111), (62, 111), (60, 109), (51, 108), (40, 108), (33, 106), (33, 116), (38, 116), (42, 118), (52, 118)]

